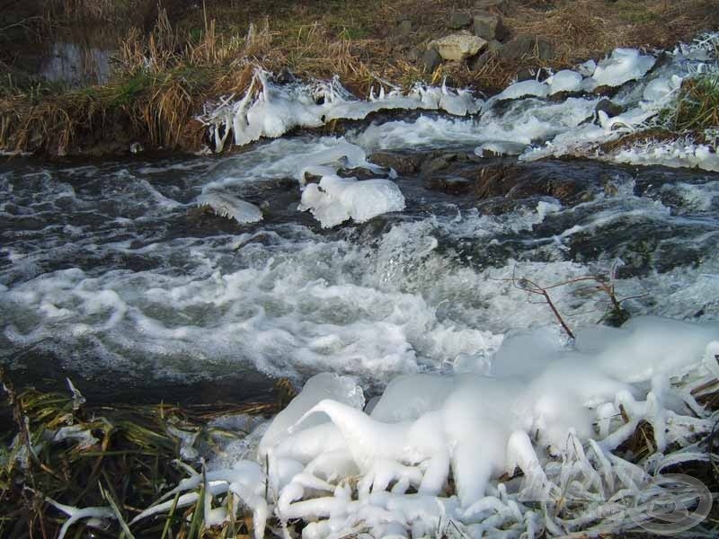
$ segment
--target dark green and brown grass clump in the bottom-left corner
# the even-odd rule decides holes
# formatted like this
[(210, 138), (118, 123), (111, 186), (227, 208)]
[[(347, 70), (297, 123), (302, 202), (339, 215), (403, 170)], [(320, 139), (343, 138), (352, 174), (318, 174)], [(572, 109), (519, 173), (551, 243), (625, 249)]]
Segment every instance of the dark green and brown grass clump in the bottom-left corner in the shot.
[[(132, 517), (187, 476), (191, 467), (181, 457), (192, 463), (197, 462), (194, 452), (220, 454), (225, 442), (238, 437), (235, 432), (210, 427), (210, 420), (232, 413), (271, 415), (279, 410), (275, 403), (99, 407), (84, 402), (72, 384), (71, 393), (16, 392), (13, 384), (3, 381), (3, 537), (49, 538), (65, 532), (76, 537), (90, 525), (96, 536), (119, 536), (128, 530)], [(77, 510), (83, 508), (94, 511), (101, 522), (82, 514), (77, 517)], [(199, 514), (195, 511), (193, 517), (192, 508), (168, 511), (132, 526), (132, 534), (213, 536), (200, 533)], [(241, 531), (241, 526), (235, 529)], [(125, 536), (132, 535), (126, 531)]]

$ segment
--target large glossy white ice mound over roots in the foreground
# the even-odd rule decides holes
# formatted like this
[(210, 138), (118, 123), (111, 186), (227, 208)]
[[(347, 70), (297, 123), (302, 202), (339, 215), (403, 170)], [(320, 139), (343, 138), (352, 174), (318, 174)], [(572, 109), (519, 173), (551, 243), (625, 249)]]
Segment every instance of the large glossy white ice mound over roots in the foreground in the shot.
[[(632, 508), (652, 475), (707, 457), (697, 446), (664, 452), (713, 428), (690, 390), (719, 372), (717, 338), (716, 324), (655, 318), (586, 328), (573, 348), (524, 333), (502, 345), (493, 376), (401, 376), (369, 414), (351, 378), (317, 375), (267, 429), (258, 464), (239, 461), (208, 480), (223, 492), (235, 470), (253, 471), (233, 491), (253, 508), (255, 537), (270, 515), (284, 529), (300, 519), (307, 538), (434, 536), (448, 521), (469, 537), (631, 529), (630, 518), (604, 521), (605, 504)], [(640, 421), (656, 453), (630, 464), (613, 452)], [(518, 469), (521, 482), (499, 479)]]

